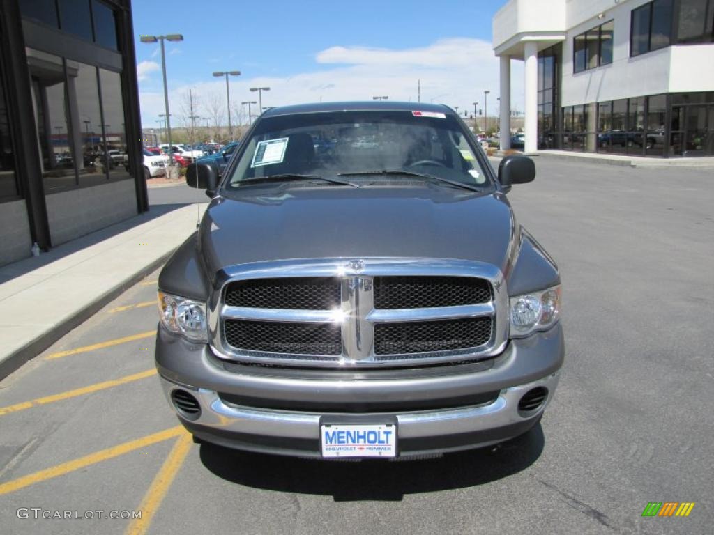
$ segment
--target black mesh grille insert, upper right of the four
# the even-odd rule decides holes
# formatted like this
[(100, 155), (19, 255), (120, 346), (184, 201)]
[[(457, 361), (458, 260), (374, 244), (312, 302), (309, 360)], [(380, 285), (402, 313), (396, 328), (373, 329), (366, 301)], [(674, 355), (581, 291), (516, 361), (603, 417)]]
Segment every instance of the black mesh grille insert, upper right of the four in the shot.
[(491, 284), (474, 277), (374, 277), (374, 307), (474, 305), (491, 300)]

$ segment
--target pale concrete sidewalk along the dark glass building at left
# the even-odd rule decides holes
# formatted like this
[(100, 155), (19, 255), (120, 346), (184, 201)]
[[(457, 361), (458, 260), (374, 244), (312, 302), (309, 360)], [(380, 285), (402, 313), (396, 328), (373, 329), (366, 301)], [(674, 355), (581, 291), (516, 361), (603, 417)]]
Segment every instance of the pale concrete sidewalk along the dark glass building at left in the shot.
[(0, 267), (0, 379), (164, 263), (206, 205), (154, 207)]

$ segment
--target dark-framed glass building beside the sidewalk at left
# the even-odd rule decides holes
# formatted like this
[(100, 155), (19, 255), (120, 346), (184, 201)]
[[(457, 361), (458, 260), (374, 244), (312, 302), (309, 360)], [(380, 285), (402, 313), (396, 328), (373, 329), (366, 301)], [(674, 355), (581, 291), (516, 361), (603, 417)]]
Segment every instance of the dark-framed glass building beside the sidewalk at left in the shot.
[(4, 1), (0, 42), (0, 265), (147, 210), (130, 1)]

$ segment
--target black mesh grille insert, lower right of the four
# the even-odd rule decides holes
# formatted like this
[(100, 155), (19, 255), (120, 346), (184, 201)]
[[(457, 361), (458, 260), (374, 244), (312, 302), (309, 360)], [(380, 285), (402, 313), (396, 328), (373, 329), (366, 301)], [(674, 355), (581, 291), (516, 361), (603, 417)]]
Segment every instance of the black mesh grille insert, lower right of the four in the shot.
[(491, 340), (491, 318), (379, 323), (374, 326), (376, 355), (422, 353), (476, 347)]

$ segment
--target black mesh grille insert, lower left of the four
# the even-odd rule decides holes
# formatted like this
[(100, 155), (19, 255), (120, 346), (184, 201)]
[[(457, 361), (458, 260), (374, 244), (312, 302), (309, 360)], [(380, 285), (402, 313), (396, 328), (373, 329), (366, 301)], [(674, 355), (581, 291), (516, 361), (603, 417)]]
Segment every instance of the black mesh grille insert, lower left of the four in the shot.
[(226, 342), (238, 350), (340, 355), (342, 340), (337, 323), (293, 323), (226, 320)]

